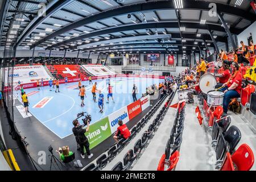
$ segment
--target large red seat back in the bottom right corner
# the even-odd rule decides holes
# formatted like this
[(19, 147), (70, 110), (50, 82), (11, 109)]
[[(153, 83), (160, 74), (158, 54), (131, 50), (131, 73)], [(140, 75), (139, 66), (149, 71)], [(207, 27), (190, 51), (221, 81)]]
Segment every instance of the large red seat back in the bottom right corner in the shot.
[(232, 155), (236, 171), (249, 171), (254, 164), (254, 154), (247, 144), (241, 144)]

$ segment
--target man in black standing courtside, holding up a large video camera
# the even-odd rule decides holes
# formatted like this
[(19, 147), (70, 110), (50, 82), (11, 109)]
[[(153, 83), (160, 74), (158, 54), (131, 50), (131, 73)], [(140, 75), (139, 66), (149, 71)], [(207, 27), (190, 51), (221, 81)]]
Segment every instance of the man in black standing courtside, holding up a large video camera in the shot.
[(93, 154), (90, 154), (90, 149), (89, 149), (89, 142), (88, 138), (85, 136), (85, 133), (89, 131), (89, 122), (87, 122), (87, 127), (86, 129), (82, 128), (82, 125), (80, 125), (79, 121), (75, 119), (73, 121), (73, 127), (72, 131), (73, 134), (76, 137), (76, 142), (80, 145), (80, 151), (81, 151), (81, 157), (84, 159), (84, 148), (86, 150), (86, 154), (88, 155), (88, 158), (92, 158)]

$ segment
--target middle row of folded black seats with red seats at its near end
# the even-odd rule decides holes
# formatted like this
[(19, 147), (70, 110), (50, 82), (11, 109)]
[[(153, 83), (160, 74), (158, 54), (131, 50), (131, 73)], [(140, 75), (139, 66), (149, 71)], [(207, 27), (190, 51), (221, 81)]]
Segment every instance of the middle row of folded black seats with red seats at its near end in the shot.
[(182, 134), (185, 120), (185, 102), (180, 102), (175, 114), (174, 126), (171, 129), (170, 138), (167, 140), (166, 149), (160, 158), (157, 171), (172, 171), (179, 161), (179, 150), (182, 142)]

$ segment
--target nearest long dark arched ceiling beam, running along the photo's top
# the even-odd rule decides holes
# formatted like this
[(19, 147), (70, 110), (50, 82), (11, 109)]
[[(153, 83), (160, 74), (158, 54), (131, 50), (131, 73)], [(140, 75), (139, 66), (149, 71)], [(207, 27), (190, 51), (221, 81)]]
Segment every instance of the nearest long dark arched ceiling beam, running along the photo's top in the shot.
[[(93, 7), (92, 5), (85, 3), (84, 1), (81, 1), (81, 0), (76, 0), (76, 1), (84, 3), (85, 5), (90, 6), (93, 9), (96, 9), (98, 11), (102, 11), (102, 10), (98, 9), (97, 7)], [(192, 0), (183, 0), (183, 1), (185, 1), (183, 10), (191, 10), (192, 9), (192, 10), (209, 11), (209, 3), (210, 2), (192, 1)], [(216, 5), (217, 5), (218, 11), (220, 11), (222, 13), (239, 16), (241, 18), (249, 19), (250, 21), (256, 20), (255, 14), (246, 12), (245, 10), (242, 10), (242, 9), (238, 9), (237, 7), (233, 7), (230, 5), (224, 5), (221, 3), (216, 3)], [(141, 12), (141, 11), (146, 12), (146, 11), (168, 10), (168, 9), (171, 9), (171, 10), (175, 9), (173, 2), (156, 1), (156, 2), (137, 3), (134, 5), (117, 7), (115, 9), (104, 11), (102, 13), (92, 15), (92, 16), (89, 16), (86, 18), (82, 18), (80, 20), (77, 20), (76, 22), (68, 24), (67, 26), (60, 28), (59, 30), (53, 32), (52, 34), (49, 34), (48, 36), (46, 36), (46, 38), (44, 38), (44, 40), (54, 38), (55, 36), (64, 34), (65, 32), (68, 32), (75, 28), (84, 26), (85, 24), (97, 22), (98, 20), (113, 18), (113, 17), (119, 16), (119, 15), (133, 14), (133, 13), (137, 13), (137, 12)], [(38, 46), (39, 44), (36, 43), (35, 46)]]

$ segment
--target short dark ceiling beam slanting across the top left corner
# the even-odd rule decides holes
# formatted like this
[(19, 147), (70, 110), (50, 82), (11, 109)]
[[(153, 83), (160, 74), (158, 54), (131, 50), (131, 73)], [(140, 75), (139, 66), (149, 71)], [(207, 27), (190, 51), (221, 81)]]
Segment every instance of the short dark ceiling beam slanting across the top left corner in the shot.
[[(16, 46), (19, 46), (22, 41), (31, 34), (33, 30), (35, 30), (36, 27), (39, 26), (40, 23), (42, 23), (44, 20), (49, 18), (53, 13), (56, 13), (57, 10), (60, 10), (64, 6), (68, 5), (69, 3), (73, 2), (74, 0), (63, 0), (63, 1), (57, 1), (53, 0), (46, 6), (46, 16), (36, 16), (32, 22), (25, 28), (23, 33), (19, 36), (19, 39), (16, 42)], [(74, 28), (75, 29), (75, 28)]]

